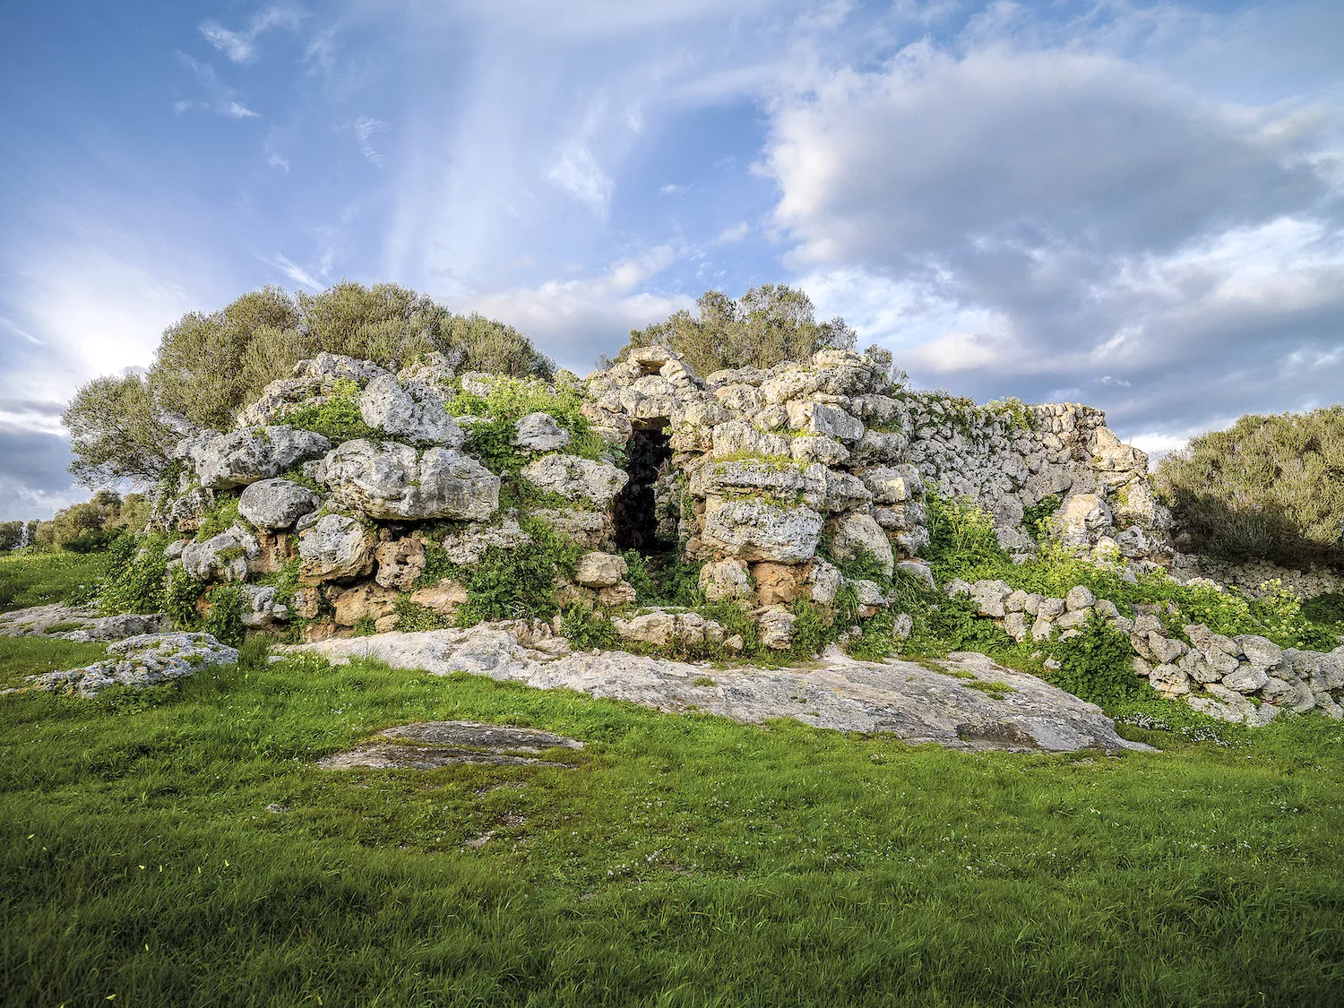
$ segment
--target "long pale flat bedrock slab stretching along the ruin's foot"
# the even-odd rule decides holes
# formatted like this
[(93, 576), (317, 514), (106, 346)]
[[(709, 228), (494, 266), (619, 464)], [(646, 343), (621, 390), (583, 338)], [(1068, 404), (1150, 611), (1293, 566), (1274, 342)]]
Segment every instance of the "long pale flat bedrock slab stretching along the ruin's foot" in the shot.
[[(543, 689), (578, 689), (660, 711), (700, 711), (746, 723), (792, 718), (806, 724), (964, 750), (1149, 749), (1122, 739), (1099, 707), (1048, 683), (958, 652), (931, 667), (860, 661), (837, 648), (780, 669), (716, 669), (621, 650), (539, 650), (519, 642), (526, 624), (380, 633), (277, 648), (321, 655), (336, 664), (368, 657), (433, 675), (473, 672)], [(563, 644), (563, 641), (559, 641)]]

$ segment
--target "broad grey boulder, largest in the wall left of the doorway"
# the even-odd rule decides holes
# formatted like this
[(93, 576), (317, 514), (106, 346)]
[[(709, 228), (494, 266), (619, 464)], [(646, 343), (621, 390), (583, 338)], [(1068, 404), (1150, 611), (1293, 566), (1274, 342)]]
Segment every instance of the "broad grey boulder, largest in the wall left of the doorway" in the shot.
[(347, 441), (323, 458), (317, 478), (345, 507), (384, 520), (480, 521), (500, 503), (500, 477), (446, 448), (422, 454), (410, 445)]

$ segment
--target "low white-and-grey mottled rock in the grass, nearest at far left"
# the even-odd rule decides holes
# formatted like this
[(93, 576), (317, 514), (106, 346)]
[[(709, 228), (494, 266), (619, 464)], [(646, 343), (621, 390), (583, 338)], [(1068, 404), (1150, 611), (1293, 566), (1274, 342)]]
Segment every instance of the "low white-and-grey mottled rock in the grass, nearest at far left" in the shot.
[(160, 685), (237, 661), (238, 652), (208, 633), (144, 633), (108, 645), (108, 657), (102, 661), (32, 676), (26, 688), (95, 696), (114, 685)]

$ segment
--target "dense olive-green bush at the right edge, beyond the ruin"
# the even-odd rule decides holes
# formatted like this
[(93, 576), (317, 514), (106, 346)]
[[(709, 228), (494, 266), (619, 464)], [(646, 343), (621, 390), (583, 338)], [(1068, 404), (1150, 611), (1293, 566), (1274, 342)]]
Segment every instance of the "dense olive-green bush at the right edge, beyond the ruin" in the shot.
[(1242, 417), (1164, 457), (1153, 484), (1183, 550), (1344, 563), (1344, 406)]

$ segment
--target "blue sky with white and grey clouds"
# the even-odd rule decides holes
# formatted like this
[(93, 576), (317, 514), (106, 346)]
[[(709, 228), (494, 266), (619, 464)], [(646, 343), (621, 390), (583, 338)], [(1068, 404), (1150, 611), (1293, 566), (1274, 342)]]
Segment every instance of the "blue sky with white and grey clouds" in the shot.
[(83, 382), (265, 284), (587, 374), (788, 282), (917, 386), (1152, 452), (1341, 399), (1339, 0), (44, 0), (0, 54), (0, 520), (87, 497)]

